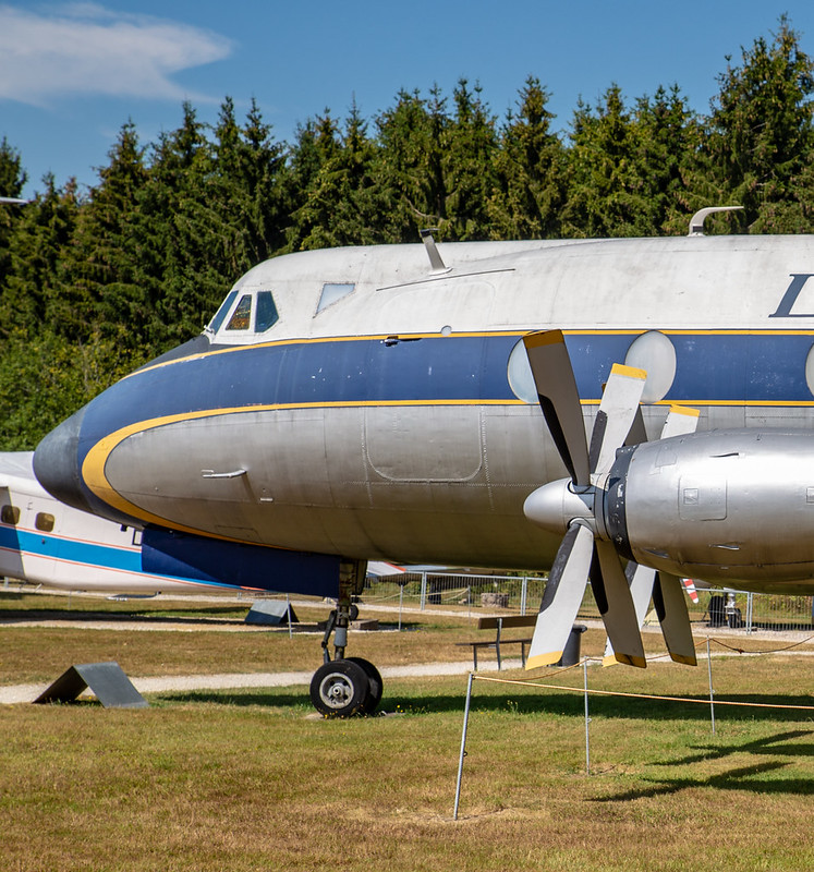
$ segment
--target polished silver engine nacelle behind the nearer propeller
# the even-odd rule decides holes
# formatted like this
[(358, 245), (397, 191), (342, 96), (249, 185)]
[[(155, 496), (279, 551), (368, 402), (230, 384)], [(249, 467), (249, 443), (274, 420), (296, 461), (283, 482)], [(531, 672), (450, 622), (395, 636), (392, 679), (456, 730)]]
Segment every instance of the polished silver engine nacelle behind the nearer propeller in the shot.
[(782, 592), (814, 578), (814, 434), (713, 431), (625, 447), (600, 501), (600, 526), (637, 562)]

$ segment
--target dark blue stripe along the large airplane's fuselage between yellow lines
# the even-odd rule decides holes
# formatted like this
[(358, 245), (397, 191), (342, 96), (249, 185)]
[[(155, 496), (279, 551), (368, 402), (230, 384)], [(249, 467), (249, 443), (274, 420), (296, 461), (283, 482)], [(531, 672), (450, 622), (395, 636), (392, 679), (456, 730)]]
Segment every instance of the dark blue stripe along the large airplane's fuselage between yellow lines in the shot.
[[(813, 335), (675, 332), (677, 372), (666, 401), (812, 403), (805, 363)], [(583, 400), (598, 400), (634, 332), (569, 334)], [(102, 436), (170, 415), (219, 409), (389, 402), (515, 402), (507, 363), (518, 335), (379, 338), (247, 347), (147, 367), (92, 401), (80, 463)]]

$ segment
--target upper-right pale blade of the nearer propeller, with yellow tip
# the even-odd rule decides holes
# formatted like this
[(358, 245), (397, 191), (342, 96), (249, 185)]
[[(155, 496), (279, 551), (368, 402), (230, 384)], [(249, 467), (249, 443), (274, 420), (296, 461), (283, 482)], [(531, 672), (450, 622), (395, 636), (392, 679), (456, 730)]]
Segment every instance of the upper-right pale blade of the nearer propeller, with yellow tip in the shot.
[(591, 472), (602, 474), (612, 465), (617, 448), (624, 444), (635, 420), (646, 380), (644, 370), (613, 364), (591, 435)]

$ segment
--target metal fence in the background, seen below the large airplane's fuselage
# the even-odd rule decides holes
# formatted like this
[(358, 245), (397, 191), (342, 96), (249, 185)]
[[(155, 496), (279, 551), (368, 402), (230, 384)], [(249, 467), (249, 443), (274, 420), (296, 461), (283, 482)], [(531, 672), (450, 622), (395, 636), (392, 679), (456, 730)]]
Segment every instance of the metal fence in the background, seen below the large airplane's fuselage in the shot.
[[(423, 611), (452, 611), (473, 616), (500, 611), (534, 614), (545, 590), (546, 579), (535, 576), (471, 576), (408, 572), (382, 579), (368, 579), (363, 601)], [(788, 594), (746, 593), (732, 590), (700, 590), (698, 602), (687, 598), (694, 625), (742, 630), (814, 629), (814, 597)], [(598, 619), (599, 610), (588, 584), (580, 607), (581, 619)]]

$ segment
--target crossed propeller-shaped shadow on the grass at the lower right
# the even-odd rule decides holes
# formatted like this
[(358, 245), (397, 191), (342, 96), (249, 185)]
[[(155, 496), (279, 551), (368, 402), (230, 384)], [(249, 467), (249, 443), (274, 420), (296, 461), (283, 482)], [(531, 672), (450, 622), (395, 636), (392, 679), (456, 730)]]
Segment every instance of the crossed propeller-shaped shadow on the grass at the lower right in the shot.
[[(743, 742), (741, 744), (730, 743), (719, 747), (705, 747), (698, 749), (700, 754), (679, 758), (669, 762), (657, 762), (655, 766), (688, 766), (690, 764), (705, 763), (710, 760), (719, 760), (731, 754), (755, 754), (760, 756), (773, 756), (774, 760), (753, 763), (749, 766), (737, 766), (726, 772), (719, 772), (707, 777), (693, 777), (684, 775), (676, 778), (654, 778), (652, 787), (642, 787), (635, 790), (625, 790), (622, 794), (595, 797), (592, 802), (630, 802), (634, 799), (646, 799), (651, 797), (663, 797), (678, 794), (687, 788), (710, 787), (717, 790), (751, 790), (756, 794), (792, 794), (794, 796), (811, 796), (814, 794), (814, 779), (790, 777), (790, 778), (765, 778), (768, 773), (779, 773), (781, 770), (792, 765), (788, 758), (800, 759), (814, 755), (814, 744), (783, 744), (794, 739), (812, 736), (814, 730), (790, 730), (789, 732), (778, 732), (775, 736), (767, 736), (763, 739)], [(777, 758), (787, 758), (777, 759)]]

